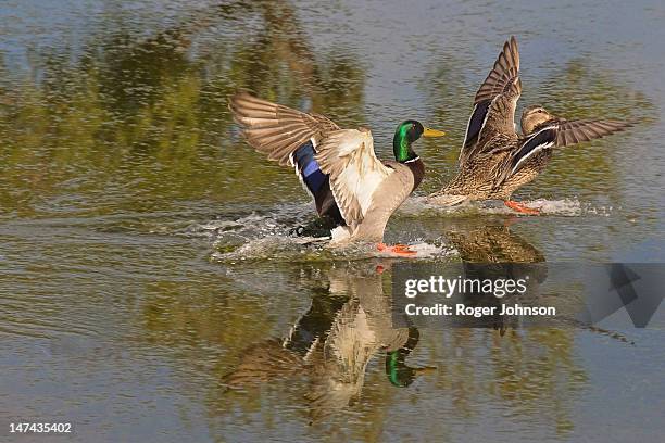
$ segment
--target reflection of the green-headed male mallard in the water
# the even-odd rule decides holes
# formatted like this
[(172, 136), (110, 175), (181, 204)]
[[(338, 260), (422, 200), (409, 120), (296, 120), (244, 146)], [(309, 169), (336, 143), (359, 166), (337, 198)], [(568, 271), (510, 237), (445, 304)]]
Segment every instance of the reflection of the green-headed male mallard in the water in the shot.
[(415, 327), (393, 328), (391, 300), (384, 294), (389, 261), (347, 264), (329, 270), (329, 287), (284, 339), (249, 346), (223, 382), (229, 389), (304, 376), (312, 421), (355, 404), (372, 357), (384, 353), (387, 380), (409, 387), (418, 374), (406, 357), (418, 343)]

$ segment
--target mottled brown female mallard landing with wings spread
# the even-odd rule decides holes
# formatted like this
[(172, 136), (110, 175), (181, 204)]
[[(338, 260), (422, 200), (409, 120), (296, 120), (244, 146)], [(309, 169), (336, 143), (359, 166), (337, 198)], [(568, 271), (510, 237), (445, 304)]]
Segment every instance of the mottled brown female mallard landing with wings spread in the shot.
[(474, 100), (466, 137), (460, 153), (460, 172), (428, 201), (455, 205), (468, 200), (503, 200), (514, 211), (539, 211), (511, 200), (517, 188), (534, 180), (554, 148), (589, 141), (624, 130), (630, 124), (607, 119), (566, 121), (542, 106), (522, 114), (522, 131), (515, 132), (515, 106), (522, 93), (517, 41), (511, 37)]

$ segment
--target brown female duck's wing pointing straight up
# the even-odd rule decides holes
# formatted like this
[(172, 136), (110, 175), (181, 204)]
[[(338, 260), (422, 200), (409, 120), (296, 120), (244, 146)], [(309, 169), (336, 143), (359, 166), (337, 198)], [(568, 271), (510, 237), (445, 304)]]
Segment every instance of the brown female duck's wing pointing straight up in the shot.
[(476, 92), (460, 152), (461, 165), (481, 148), (478, 142), (487, 139), (491, 131), (514, 131), (515, 105), (520, 93), (519, 51), (517, 40), (511, 37)]

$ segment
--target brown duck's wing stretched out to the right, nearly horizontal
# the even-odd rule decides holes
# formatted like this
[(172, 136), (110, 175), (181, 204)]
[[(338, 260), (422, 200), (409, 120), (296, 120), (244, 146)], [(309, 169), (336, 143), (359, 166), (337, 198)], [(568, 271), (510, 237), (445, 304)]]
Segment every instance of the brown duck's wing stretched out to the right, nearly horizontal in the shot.
[(604, 119), (561, 121), (545, 124), (537, 132), (522, 141), (519, 149), (507, 157), (507, 165), (500, 182), (515, 175), (534, 155), (550, 148), (563, 148), (622, 131), (632, 126), (630, 123)]

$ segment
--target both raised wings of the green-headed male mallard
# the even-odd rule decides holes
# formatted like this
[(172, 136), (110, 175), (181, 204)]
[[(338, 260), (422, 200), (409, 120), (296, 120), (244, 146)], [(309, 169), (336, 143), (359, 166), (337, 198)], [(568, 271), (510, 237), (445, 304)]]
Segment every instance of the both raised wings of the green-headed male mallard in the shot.
[(280, 165), (296, 167), (319, 214), (326, 193), (331, 191), (347, 225), (360, 224), (374, 191), (392, 173), (376, 157), (369, 130), (340, 129), (323, 115), (306, 114), (244, 92), (233, 97), (229, 107), (256, 151)]

